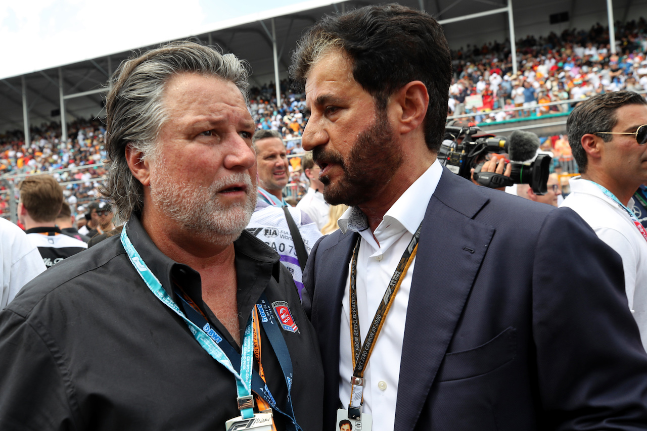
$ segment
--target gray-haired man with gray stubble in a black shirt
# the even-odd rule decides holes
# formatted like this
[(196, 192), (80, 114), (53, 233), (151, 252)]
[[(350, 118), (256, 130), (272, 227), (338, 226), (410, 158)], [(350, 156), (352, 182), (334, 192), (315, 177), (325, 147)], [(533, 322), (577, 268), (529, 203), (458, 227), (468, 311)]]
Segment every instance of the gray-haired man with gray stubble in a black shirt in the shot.
[(243, 63), (150, 50), (115, 72), (106, 111), (103, 193), (127, 223), (0, 313), (0, 429), (320, 430), (313, 329), (278, 254), (244, 230)]

